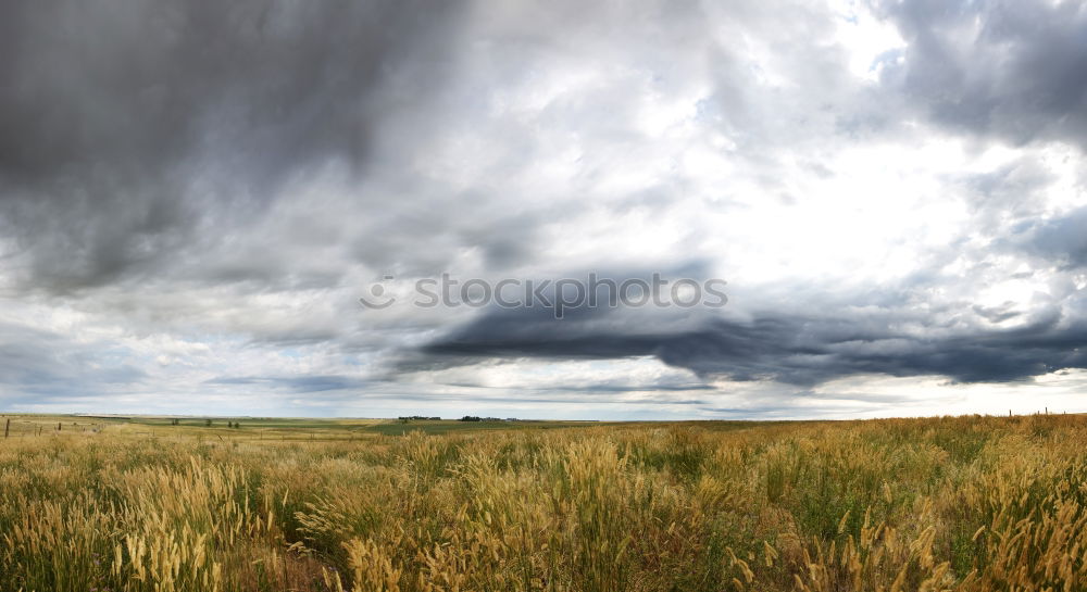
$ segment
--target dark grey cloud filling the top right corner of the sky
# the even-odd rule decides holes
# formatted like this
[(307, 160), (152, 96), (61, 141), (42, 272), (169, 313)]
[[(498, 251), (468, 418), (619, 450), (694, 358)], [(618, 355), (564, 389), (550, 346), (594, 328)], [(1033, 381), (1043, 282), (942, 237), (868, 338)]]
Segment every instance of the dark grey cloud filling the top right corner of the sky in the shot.
[(885, 56), (884, 85), (935, 122), (1016, 144), (1087, 147), (1083, 2), (915, 0), (879, 10), (908, 43)]

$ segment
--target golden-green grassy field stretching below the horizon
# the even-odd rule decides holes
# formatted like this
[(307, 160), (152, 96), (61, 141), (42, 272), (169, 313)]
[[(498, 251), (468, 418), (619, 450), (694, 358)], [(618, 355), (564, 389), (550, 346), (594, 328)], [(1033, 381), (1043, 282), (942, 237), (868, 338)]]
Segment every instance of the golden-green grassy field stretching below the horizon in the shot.
[(5, 419), (0, 592), (1087, 590), (1079, 415)]

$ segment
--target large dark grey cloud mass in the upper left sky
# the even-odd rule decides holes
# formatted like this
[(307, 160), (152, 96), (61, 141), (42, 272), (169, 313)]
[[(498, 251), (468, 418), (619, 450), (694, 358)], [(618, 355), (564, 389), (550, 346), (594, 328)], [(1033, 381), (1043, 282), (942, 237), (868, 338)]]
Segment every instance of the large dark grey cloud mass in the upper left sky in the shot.
[(382, 117), (440, 84), (460, 10), (5, 2), (0, 231), (25, 281), (162, 274), (259, 218), (287, 180), (329, 162), (361, 174)]

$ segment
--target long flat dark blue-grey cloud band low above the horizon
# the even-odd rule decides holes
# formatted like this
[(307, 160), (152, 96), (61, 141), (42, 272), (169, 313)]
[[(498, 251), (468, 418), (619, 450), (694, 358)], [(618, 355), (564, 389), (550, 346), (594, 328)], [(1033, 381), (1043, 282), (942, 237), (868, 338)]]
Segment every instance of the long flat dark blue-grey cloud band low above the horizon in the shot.
[[(825, 303), (824, 303), (825, 304)], [(855, 304), (855, 303), (854, 303)], [(982, 310), (992, 320), (1007, 312)], [(1015, 328), (936, 325), (927, 314), (863, 306), (838, 314), (762, 312), (751, 318), (677, 323), (658, 311), (582, 310), (555, 319), (545, 310), (498, 311), (422, 348), (427, 363), (472, 364), (491, 357), (608, 360), (654, 356), (703, 377), (815, 386), (855, 375), (945, 376), (955, 382), (1025, 380), (1087, 368), (1087, 323), (1059, 310)], [(907, 329), (911, 324), (923, 326)]]

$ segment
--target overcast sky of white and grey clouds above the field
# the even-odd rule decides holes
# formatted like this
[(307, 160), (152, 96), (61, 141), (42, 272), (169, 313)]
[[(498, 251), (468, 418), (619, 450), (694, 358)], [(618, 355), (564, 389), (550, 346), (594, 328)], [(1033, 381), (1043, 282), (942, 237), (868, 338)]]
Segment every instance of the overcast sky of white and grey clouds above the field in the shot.
[(0, 408), (1087, 411), (1085, 150), (1083, 2), (5, 1)]

